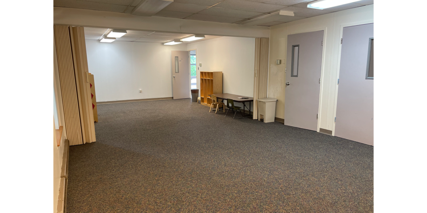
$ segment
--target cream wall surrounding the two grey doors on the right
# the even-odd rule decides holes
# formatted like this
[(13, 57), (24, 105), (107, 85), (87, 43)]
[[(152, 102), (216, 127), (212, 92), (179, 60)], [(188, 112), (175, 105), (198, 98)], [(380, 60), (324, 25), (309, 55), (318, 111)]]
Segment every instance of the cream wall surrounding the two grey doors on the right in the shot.
[[(284, 119), (286, 48), (290, 34), (325, 30), (319, 128), (334, 131), (341, 26), (374, 20), (375, 6), (363, 6), (271, 27), (268, 97), (277, 98), (276, 117)], [(282, 60), (276, 65), (276, 60)]]

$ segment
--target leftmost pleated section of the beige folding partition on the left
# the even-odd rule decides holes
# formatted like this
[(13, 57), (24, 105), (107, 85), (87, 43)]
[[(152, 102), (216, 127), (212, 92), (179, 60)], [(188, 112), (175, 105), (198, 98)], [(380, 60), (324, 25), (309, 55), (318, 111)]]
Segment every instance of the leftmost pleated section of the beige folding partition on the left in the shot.
[(67, 137), (70, 145), (83, 144), (80, 122), (79, 103), (77, 99), (76, 77), (74, 73), (71, 40), (68, 26), (53, 26), (55, 32), (58, 68), (64, 103)]

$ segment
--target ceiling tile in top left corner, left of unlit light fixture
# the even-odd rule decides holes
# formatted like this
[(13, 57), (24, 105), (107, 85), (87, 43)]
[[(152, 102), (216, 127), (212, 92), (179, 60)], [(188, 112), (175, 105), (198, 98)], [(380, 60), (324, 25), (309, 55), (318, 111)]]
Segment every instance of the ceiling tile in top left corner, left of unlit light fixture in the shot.
[(68, 7), (123, 13), (128, 6), (77, 0), (53, 0), (54, 7)]

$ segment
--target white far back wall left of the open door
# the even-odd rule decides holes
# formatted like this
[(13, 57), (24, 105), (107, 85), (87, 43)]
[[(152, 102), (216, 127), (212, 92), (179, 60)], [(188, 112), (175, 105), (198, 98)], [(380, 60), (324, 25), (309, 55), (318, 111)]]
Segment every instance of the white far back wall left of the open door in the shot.
[(187, 45), (86, 40), (86, 49), (97, 102), (106, 102), (172, 97), (171, 51)]

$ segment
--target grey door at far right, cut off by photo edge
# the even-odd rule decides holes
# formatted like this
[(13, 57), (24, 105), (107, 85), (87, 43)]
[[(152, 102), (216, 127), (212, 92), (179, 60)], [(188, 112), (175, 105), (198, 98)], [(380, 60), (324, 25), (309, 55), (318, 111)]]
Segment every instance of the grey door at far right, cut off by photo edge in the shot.
[(369, 47), (374, 42), (374, 32), (374, 24), (344, 28), (335, 124), (336, 137), (372, 146), (375, 137), (374, 48)]

